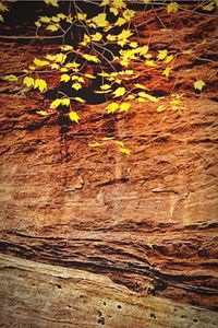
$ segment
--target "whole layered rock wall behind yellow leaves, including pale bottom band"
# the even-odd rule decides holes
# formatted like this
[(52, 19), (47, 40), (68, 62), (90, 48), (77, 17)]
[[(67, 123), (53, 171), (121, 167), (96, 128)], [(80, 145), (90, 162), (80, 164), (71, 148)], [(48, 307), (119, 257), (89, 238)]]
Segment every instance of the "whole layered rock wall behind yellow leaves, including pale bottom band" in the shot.
[[(185, 109), (132, 103), (107, 116), (106, 104), (85, 105), (70, 125), (39, 117), (48, 102), (35, 92), (2, 83), (1, 327), (216, 327), (216, 49), (201, 44), (214, 40), (215, 19), (184, 12), (171, 32), (150, 24), (150, 47), (198, 45), (196, 61), (175, 63)], [(4, 39), (2, 72), (20, 72), (41, 47)], [(207, 81), (202, 94), (196, 74)], [(169, 107), (174, 80), (159, 77), (147, 83)], [(88, 148), (108, 136), (132, 154)]]

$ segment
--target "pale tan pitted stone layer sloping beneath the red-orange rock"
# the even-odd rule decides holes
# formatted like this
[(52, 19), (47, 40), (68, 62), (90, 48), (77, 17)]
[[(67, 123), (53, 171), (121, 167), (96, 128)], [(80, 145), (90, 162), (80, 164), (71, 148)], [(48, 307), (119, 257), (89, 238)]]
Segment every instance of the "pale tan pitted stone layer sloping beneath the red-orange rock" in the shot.
[(0, 268), (1, 327), (217, 327), (215, 313), (143, 296), (85, 271), (8, 256)]

